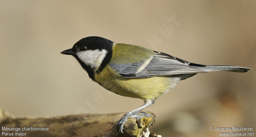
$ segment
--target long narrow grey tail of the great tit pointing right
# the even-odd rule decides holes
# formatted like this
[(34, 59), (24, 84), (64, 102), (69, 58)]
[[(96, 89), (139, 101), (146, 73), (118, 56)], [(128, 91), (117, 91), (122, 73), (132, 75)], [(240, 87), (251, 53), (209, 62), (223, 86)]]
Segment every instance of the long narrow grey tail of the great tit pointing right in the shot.
[(252, 70), (246, 67), (232, 66), (232, 65), (191, 65), (193, 68), (197, 68), (206, 72), (210, 71), (231, 71), (231, 72), (247, 72)]

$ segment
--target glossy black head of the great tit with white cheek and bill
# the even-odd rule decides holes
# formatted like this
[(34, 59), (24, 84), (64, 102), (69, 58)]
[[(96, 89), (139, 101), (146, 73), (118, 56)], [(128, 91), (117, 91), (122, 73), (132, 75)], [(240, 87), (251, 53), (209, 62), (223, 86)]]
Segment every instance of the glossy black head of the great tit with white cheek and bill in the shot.
[(72, 49), (62, 51), (61, 54), (74, 56), (94, 80), (94, 74), (102, 71), (109, 63), (113, 44), (106, 38), (91, 36), (80, 39)]

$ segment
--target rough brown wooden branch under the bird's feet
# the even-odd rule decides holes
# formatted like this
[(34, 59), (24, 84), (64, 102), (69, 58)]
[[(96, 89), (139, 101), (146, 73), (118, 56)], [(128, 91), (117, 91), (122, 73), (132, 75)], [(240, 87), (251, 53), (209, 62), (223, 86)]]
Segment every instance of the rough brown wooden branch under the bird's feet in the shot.
[[(154, 113), (150, 114), (155, 117)], [(141, 118), (139, 126), (139, 120), (128, 119), (124, 124), (124, 134), (120, 134), (116, 122), (120, 120), (123, 115), (124, 113), (112, 113), (78, 114), (44, 118), (15, 118), (5, 111), (0, 110), (1, 135), (3, 136), (4, 134), (9, 133), (14, 136), (15, 133), (20, 133), (20, 136), (23, 134), (25, 137), (140, 137), (144, 133), (143, 137), (157, 137), (156, 134), (153, 132), (149, 133), (148, 131), (148, 127), (153, 126), (154, 124), (154, 120), (151, 117)], [(6, 130), (9, 127), (20, 127), (20, 130), (17, 132), (15, 130)], [(39, 127), (38, 129), (43, 129), (42, 127), (44, 127), (45, 130), (23, 130), (23, 127), (26, 129), (31, 129), (31, 127)], [(48, 130), (46, 130), (46, 127)], [(5, 130), (3, 130), (3, 128), (5, 128)]]

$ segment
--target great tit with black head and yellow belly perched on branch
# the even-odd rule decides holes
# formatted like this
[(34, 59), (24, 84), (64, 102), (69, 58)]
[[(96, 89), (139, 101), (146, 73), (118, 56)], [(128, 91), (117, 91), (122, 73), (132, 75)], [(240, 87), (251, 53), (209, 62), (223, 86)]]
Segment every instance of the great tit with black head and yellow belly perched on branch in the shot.
[[(123, 133), (128, 118), (151, 116), (142, 109), (172, 89), (180, 80), (210, 71), (247, 72), (250, 68), (231, 65), (201, 65), (144, 47), (86, 37), (61, 54), (74, 56), (89, 77), (118, 95), (139, 98), (144, 105), (124, 114), (117, 122)], [(154, 118), (154, 117), (153, 117)]]

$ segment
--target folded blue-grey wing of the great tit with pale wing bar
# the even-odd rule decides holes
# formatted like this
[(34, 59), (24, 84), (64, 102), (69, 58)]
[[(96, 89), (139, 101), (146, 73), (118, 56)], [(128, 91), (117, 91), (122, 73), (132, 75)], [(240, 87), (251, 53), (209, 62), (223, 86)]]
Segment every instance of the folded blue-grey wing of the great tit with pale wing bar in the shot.
[[(155, 51), (148, 59), (127, 64), (109, 64), (117, 73), (126, 78), (147, 78), (187, 73), (206, 72), (190, 67), (190, 62)], [(197, 65), (197, 64), (196, 64)], [(199, 64), (198, 64), (199, 65)], [(204, 66), (204, 65), (203, 65)]]

